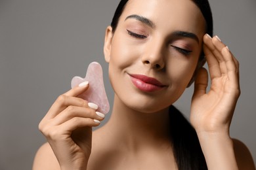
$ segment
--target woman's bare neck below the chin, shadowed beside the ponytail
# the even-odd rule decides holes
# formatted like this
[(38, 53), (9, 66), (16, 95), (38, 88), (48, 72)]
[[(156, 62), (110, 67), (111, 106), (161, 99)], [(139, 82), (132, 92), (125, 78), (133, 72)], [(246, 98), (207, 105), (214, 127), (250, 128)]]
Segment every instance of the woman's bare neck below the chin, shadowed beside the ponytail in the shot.
[(114, 98), (112, 115), (104, 129), (125, 148), (170, 146), (169, 109), (144, 113), (127, 107), (117, 96)]

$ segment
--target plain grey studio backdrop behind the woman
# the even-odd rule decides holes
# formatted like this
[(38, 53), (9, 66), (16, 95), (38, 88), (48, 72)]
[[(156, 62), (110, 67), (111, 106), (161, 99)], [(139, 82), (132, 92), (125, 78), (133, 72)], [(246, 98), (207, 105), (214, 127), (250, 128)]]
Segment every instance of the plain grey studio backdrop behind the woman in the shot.
[[(118, 0), (0, 0), (0, 169), (31, 169), (45, 138), (37, 129), (56, 97), (84, 76), (91, 61), (104, 69), (102, 46)], [(240, 61), (242, 95), (231, 126), (256, 160), (256, 2), (210, 0), (215, 34)], [(192, 88), (176, 105), (189, 113)], [(104, 120), (104, 122), (106, 122)]]

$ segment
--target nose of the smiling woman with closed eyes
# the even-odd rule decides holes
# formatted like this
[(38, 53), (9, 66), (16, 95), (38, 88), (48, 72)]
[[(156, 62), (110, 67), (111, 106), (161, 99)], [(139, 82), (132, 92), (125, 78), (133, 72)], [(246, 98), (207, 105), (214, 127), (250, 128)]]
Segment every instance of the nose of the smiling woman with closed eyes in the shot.
[(165, 49), (163, 42), (152, 42), (146, 46), (141, 57), (142, 63), (152, 69), (161, 70), (165, 67)]

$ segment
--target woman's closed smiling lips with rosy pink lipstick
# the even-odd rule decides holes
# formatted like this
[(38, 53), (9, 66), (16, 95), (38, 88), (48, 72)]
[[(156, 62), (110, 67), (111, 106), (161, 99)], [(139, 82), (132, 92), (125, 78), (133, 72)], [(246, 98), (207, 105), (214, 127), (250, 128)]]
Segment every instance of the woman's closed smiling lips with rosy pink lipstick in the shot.
[(131, 77), (133, 84), (143, 92), (154, 92), (165, 87), (165, 85), (156, 78), (136, 74), (131, 74), (129, 76)]

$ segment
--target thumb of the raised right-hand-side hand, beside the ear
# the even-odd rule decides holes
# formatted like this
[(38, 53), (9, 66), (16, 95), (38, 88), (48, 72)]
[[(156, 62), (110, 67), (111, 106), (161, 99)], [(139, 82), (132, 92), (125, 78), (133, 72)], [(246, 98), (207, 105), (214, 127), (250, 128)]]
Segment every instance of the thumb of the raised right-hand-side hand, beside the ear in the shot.
[(205, 68), (200, 68), (198, 71), (198, 75), (196, 76), (196, 80), (194, 83), (194, 97), (200, 97), (206, 93), (206, 88), (208, 85), (208, 73)]

